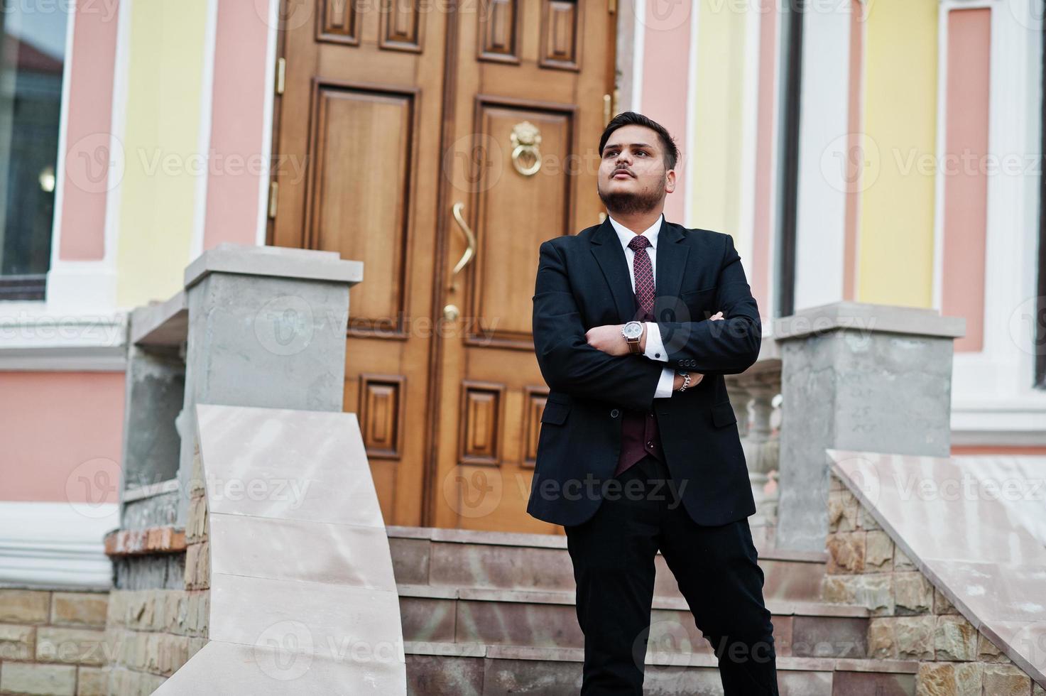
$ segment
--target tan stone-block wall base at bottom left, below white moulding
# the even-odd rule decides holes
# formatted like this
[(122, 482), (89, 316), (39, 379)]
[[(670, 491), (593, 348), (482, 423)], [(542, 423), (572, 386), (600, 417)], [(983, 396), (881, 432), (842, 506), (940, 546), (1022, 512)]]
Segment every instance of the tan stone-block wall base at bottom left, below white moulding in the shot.
[(105, 696), (107, 592), (0, 589), (0, 694)]

